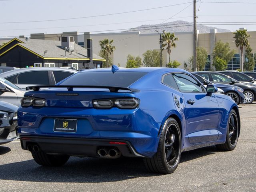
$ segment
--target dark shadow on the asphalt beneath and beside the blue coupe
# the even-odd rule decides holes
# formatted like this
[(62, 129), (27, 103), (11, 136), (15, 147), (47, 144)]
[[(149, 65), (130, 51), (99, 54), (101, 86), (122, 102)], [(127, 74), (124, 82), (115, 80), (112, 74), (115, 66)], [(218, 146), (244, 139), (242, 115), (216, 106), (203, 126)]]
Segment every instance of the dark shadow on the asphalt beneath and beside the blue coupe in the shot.
[[(215, 147), (184, 152), (180, 162), (190, 161), (216, 152)], [(158, 175), (160, 174), (147, 172), (142, 158), (110, 160), (71, 157), (62, 167), (43, 167), (36, 164), (34, 160), (0, 165), (0, 180), (30, 182), (99, 183)]]

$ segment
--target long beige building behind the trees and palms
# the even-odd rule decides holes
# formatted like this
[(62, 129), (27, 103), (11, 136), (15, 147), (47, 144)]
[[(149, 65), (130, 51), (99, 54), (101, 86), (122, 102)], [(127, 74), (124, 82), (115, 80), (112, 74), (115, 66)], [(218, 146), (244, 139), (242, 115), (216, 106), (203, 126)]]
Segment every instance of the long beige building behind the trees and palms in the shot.
[[(242, 28), (243, 29), (243, 28)], [(256, 60), (256, 31), (248, 32), (250, 34), (249, 42), (254, 53), (254, 60)], [(189, 58), (193, 55), (193, 33), (192, 32), (178, 32), (175, 35), (179, 38), (176, 42), (176, 48), (172, 49), (170, 58), (181, 63), (179, 68), (184, 68), (184, 62), (188, 64)], [(98, 54), (100, 52), (99, 41), (104, 38), (113, 39), (113, 45), (116, 47), (114, 54), (112, 54), (112, 61), (115, 65), (121, 67), (126, 66), (126, 58), (128, 54), (133, 56), (140, 56), (147, 50), (160, 50), (159, 39), (160, 35), (144, 34), (141, 32), (118, 32), (118, 33), (104, 33), (104, 34), (90, 34), (89, 32), (80, 34), (78, 32), (64, 32), (62, 34), (31, 34), (31, 38), (60, 40), (62, 36), (74, 36), (75, 42), (86, 47), (86, 40), (92, 38), (93, 52)], [(206, 48), (208, 52), (208, 62), (205, 70), (210, 70), (212, 64), (212, 50), (215, 42), (221, 40), (222, 42), (229, 42), (231, 49), (236, 50), (234, 58), (228, 63), (228, 70), (236, 70), (240, 68), (241, 58), (240, 49), (234, 43), (234, 34), (232, 32), (217, 33), (216, 30), (210, 30), (210, 33), (200, 34), (198, 31), (198, 46)], [(85, 43), (84, 43), (85, 42)], [(163, 64), (168, 63), (168, 54), (166, 50), (163, 51)], [(256, 68), (255, 68), (256, 71)]]

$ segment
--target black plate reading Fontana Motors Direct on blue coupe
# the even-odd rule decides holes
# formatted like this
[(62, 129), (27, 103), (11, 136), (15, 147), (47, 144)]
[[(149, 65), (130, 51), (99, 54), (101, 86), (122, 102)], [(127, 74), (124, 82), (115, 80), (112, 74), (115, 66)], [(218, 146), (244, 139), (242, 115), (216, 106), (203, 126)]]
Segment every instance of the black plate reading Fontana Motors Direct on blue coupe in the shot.
[(54, 132), (69, 132), (75, 133), (77, 126), (76, 119), (55, 119)]

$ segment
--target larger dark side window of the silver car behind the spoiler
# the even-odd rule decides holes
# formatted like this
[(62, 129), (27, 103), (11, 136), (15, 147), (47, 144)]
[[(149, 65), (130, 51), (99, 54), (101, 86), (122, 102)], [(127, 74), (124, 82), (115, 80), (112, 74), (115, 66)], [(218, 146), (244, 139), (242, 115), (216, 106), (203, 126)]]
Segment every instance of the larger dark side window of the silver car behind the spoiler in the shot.
[(48, 71), (30, 71), (18, 76), (18, 84), (49, 85)]

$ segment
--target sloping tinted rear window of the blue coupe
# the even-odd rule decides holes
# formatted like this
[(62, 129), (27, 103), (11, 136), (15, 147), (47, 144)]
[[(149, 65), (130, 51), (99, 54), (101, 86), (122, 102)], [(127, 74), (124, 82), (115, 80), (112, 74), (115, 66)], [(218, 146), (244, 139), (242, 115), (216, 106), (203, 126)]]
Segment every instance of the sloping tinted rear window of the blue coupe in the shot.
[(146, 72), (82, 72), (77, 73), (60, 85), (128, 87)]

